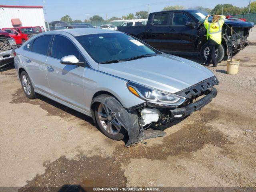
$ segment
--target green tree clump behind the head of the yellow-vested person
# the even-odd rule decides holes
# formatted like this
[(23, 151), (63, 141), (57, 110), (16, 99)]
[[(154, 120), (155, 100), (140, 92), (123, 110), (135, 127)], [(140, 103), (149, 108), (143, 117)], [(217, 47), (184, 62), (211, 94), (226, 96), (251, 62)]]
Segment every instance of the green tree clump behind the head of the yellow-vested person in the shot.
[(212, 9), (211, 14), (221, 15), (222, 7), (223, 7), (223, 15), (244, 13), (244, 8), (236, 7), (236, 6), (233, 6), (232, 4), (218, 4)]

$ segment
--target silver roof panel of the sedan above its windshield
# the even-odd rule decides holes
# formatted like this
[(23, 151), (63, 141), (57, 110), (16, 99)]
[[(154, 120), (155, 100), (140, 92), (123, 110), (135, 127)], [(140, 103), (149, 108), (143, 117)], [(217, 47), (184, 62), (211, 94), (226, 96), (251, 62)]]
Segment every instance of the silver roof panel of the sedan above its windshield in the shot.
[(51, 34), (62, 34), (61, 32), (66, 32), (71, 34), (72, 36), (82, 36), (82, 35), (90, 35), (90, 34), (101, 34), (101, 33), (122, 33), (114, 30), (106, 30), (106, 29), (97, 29), (97, 28), (74, 28), (74, 29), (63, 29), (54, 32), (44, 32)]

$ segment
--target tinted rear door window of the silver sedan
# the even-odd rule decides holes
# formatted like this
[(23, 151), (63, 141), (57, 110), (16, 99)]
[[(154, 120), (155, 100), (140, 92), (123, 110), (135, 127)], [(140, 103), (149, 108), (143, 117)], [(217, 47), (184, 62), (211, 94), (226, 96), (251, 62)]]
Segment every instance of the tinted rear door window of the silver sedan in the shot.
[(36, 38), (32, 46), (32, 52), (47, 55), (51, 38), (52, 38), (51, 35), (45, 35), (45, 36), (40, 36)]

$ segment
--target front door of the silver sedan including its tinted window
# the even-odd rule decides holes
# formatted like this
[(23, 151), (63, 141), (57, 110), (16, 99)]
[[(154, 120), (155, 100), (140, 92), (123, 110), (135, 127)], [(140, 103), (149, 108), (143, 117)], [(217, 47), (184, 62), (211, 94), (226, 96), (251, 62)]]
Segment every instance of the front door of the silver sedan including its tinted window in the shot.
[(80, 62), (85, 62), (82, 54), (70, 39), (55, 35), (46, 71), (50, 94), (83, 109), (85, 107), (84, 66), (61, 64), (61, 58), (68, 55), (74, 55)]

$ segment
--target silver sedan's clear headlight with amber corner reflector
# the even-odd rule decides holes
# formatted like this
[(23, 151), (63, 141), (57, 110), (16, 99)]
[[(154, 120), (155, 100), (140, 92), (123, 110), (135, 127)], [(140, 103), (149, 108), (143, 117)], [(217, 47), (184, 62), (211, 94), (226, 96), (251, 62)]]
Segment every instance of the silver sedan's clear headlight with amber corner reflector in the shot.
[(186, 100), (186, 98), (182, 96), (156, 90), (132, 82), (127, 83), (127, 88), (132, 94), (151, 103), (178, 106)]

